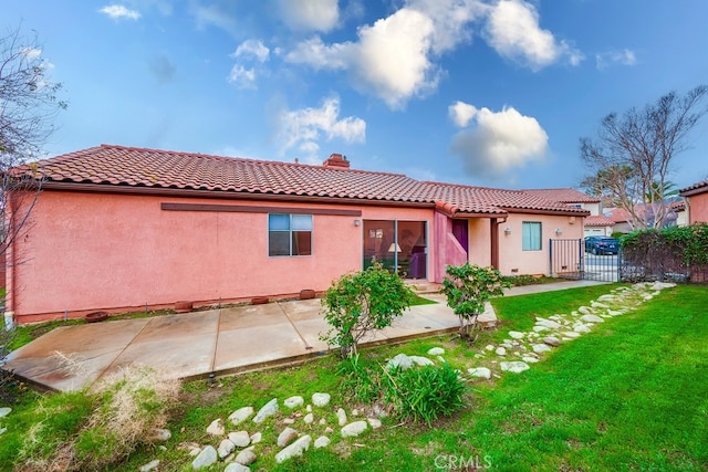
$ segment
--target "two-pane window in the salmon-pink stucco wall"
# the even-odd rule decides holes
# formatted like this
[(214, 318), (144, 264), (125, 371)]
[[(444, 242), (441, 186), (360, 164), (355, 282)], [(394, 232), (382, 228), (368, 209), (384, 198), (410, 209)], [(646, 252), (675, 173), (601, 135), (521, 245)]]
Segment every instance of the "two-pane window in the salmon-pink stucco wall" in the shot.
[(268, 255), (312, 255), (312, 214), (269, 214)]

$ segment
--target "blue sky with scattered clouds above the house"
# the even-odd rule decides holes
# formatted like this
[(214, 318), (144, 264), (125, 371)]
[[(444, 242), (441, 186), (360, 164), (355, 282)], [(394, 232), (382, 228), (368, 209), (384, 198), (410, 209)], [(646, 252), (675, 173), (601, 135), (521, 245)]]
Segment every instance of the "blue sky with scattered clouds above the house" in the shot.
[[(610, 112), (708, 83), (706, 0), (1, 0), (98, 144), (575, 187)], [(2, 24), (4, 23), (4, 24)], [(670, 179), (708, 178), (708, 119)]]

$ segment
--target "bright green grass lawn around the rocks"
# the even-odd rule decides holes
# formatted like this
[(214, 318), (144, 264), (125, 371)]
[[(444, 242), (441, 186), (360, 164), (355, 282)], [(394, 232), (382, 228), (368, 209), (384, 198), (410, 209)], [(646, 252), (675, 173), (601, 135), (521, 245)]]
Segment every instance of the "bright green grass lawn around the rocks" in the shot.
[[(421, 354), (444, 346), (454, 367), (469, 367), (473, 354), (486, 343), (510, 329), (528, 331), (534, 316), (568, 313), (612, 287), (497, 298), (493, 305), (503, 323), (497, 332), (483, 333), (475, 346), (438, 337), (365, 350), (364, 356), (383, 363), (397, 353)], [(342, 440), (330, 434), (333, 442), (327, 448), (311, 448), (303, 458), (280, 465), (272, 459), (273, 445), (263, 444), (257, 449), (259, 460), (251, 469), (435, 471), (480, 465), (499, 471), (706, 470), (706, 286), (665, 290), (636, 311), (610, 318), (592, 333), (555, 348), (530, 370), (492, 381), (476, 380), (470, 408), (434, 428), (387, 418), (382, 429), (361, 438)], [(166, 451), (143, 449), (111, 470), (134, 471), (155, 458), (163, 461), (159, 470), (191, 470), (191, 459), (177, 450), (180, 442), (214, 443), (205, 433), (211, 420), (247, 405), (258, 409), (274, 397), (308, 398), (315, 391), (329, 391), (333, 406), (351, 406), (337, 388), (337, 367), (334, 357), (325, 357), (300, 367), (220, 379), (215, 387), (205, 381), (187, 384), (169, 424), (174, 437)], [(9, 421), (21, 417), (25, 408), (18, 406)], [(330, 423), (335, 423), (333, 411), (331, 417)], [(263, 434), (277, 436), (283, 427), (267, 423)], [(7, 439), (11, 443), (12, 437)], [(6, 449), (6, 453), (11, 452)], [(208, 471), (223, 468), (220, 464)]]

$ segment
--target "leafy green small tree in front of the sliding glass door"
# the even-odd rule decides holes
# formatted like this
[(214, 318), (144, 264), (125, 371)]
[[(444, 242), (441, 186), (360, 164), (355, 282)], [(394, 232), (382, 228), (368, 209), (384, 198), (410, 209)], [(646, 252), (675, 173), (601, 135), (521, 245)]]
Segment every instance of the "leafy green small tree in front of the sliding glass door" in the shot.
[(342, 275), (322, 298), (324, 318), (332, 329), (321, 339), (339, 346), (342, 357), (356, 356), (358, 342), (375, 329), (391, 326), (410, 306), (413, 296), (413, 291), (381, 263)]

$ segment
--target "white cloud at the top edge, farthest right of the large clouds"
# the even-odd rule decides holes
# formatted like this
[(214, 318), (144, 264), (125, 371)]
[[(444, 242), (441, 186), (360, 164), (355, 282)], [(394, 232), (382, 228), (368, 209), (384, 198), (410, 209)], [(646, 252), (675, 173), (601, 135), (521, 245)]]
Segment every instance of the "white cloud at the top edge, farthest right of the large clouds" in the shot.
[(533, 71), (563, 59), (577, 65), (584, 59), (580, 51), (541, 29), (537, 9), (523, 0), (501, 0), (490, 7), (485, 33), (501, 56)]

